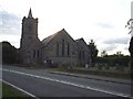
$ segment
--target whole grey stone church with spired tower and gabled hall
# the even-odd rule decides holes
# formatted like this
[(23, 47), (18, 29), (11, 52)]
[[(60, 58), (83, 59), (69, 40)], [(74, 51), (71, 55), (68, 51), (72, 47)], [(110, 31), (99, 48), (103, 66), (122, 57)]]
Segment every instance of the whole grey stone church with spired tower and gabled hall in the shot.
[(22, 64), (75, 66), (89, 64), (90, 50), (83, 38), (73, 40), (64, 29), (40, 41), (38, 19), (30, 9), (22, 19), (20, 57)]

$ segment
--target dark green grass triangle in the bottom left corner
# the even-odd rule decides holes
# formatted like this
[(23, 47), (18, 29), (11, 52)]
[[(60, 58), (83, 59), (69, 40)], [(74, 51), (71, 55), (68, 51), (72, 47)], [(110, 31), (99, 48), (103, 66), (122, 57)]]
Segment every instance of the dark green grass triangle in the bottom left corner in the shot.
[(2, 82), (2, 97), (29, 97), (20, 90)]

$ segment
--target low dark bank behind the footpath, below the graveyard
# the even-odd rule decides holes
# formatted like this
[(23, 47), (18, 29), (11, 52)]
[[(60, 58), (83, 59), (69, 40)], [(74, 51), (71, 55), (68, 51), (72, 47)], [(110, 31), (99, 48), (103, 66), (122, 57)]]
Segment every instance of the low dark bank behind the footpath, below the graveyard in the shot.
[(65, 68), (65, 67), (58, 67), (58, 68), (49, 68), (53, 72), (64, 72), (64, 73), (73, 73), (73, 74), (83, 74), (83, 75), (96, 75), (103, 77), (113, 77), (113, 78), (122, 78), (122, 79), (131, 79), (131, 72), (125, 70), (114, 70), (114, 69), (98, 69), (96, 67), (74, 67), (74, 68)]

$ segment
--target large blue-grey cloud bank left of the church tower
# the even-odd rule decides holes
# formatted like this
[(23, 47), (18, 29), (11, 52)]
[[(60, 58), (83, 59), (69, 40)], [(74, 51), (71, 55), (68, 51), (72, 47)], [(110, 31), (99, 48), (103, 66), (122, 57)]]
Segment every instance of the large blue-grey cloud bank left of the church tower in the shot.
[(2, 34), (18, 34), (21, 19), (13, 13), (0, 11), (0, 31)]

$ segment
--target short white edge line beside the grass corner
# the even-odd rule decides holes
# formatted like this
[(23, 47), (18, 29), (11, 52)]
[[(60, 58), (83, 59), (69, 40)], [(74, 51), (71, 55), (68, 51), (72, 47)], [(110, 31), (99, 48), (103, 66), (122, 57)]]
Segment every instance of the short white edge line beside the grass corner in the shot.
[(11, 87), (13, 87), (13, 88), (20, 90), (20, 91), (22, 91), (23, 94), (25, 94), (25, 95), (28, 95), (28, 96), (33, 97), (34, 99), (40, 99), (40, 98), (35, 97), (34, 95), (32, 95), (32, 94), (30, 94), (30, 92), (28, 92), (28, 91), (25, 91), (25, 90), (23, 90), (23, 89), (17, 87), (17, 86), (12, 85), (12, 84), (10, 84), (10, 82), (3, 80), (3, 79), (0, 79), (0, 80), (2, 80), (4, 84), (7, 84), (7, 85), (9, 85), (9, 86), (11, 86)]

